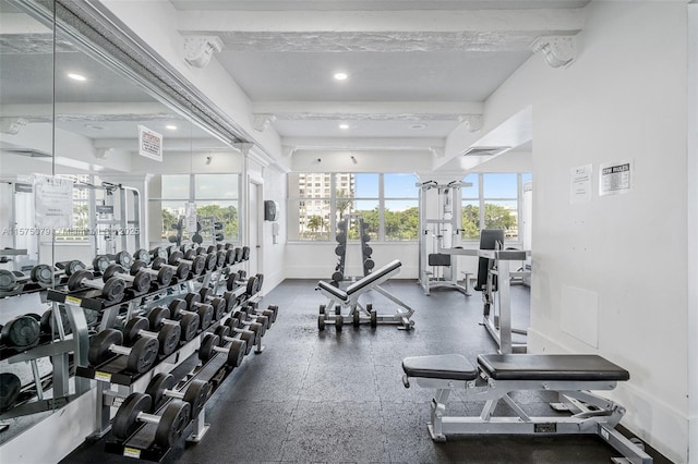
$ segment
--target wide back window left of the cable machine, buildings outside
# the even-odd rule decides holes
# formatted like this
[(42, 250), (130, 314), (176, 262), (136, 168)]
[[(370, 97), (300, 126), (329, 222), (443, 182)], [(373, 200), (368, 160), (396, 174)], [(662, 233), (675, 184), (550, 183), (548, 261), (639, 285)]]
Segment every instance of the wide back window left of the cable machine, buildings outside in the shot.
[[(306, 185), (317, 180), (322, 181), (322, 188), (311, 194)], [(419, 191), (416, 184), (417, 178), (412, 174), (290, 174), (289, 240), (334, 240), (337, 223), (347, 215), (350, 240), (359, 239), (356, 224), (359, 217), (372, 241), (417, 240)]]

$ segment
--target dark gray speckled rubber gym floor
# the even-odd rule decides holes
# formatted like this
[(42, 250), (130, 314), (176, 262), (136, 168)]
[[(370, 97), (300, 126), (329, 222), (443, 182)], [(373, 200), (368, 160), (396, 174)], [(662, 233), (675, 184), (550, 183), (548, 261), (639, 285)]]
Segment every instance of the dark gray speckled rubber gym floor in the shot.
[[(401, 359), (411, 355), (494, 353), (479, 326), (479, 293), (453, 290), (425, 296), (414, 281), (384, 288), (414, 309), (414, 330), (395, 326), (317, 330), (325, 298), (316, 281), (287, 280), (262, 302), (279, 306), (263, 339), (266, 350), (249, 355), (206, 403), (210, 428), (198, 444), (180, 444), (168, 462), (404, 462), (404, 463), (610, 463), (618, 454), (597, 437), (453, 437), (433, 442), (426, 431), (433, 390), (402, 386)], [(515, 326), (528, 323), (528, 291), (513, 289)], [(395, 304), (372, 292), (378, 313)], [(529, 412), (551, 415), (544, 399), (518, 395)], [(449, 412), (477, 414), (481, 404), (456, 393)], [(506, 407), (506, 406), (505, 406)], [(497, 411), (498, 413), (500, 411)], [(104, 452), (104, 441), (85, 444), (63, 462), (134, 462)], [(655, 463), (665, 462), (657, 460)]]

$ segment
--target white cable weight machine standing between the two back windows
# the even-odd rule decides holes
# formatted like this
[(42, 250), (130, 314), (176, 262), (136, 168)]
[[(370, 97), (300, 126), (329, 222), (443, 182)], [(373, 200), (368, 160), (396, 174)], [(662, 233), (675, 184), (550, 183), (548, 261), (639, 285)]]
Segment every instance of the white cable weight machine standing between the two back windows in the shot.
[[(470, 294), (468, 285), (458, 283), (458, 261), (448, 253), (448, 249), (461, 247), (460, 188), (468, 185), (458, 181), (447, 184), (426, 181), (417, 184), (420, 187), (419, 283), (425, 295), (430, 295), (431, 289), (436, 288), (454, 289), (466, 295)], [(437, 218), (433, 218), (434, 216)]]

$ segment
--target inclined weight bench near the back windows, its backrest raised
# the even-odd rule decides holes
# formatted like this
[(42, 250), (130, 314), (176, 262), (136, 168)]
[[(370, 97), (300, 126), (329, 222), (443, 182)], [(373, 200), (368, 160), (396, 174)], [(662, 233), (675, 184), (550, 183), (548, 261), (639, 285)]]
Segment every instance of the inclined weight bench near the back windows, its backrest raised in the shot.
[[(400, 262), (398, 259), (388, 262), (380, 269), (374, 270), (366, 277), (352, 283), (346, 291), (334, 286), (325, 281), (317, 282), (315, 290), (318, 290), (323, 295), (327, 296), (329, 301), (327, 304), (320, 305), (320, 316), (317, 317), (317, 328), (325, 330), (325, 326), (334, 323), (337, 330), (341, 330), (341, 327), (346, 323), (353, 323), (354, 327), (359, 327), (361, 323), (371, 323), (371, 327), (376, 327), (378, 323), (393, 323), (397, 325), (398, 329), (410, 330), (414, 326), (414, 321), (410, 320), (414, 309), (410, 308), (406, 303), (400, 301), (395, 295), (381, 288), (381, 284), (400, 272)], [(365, 306), (359, 302), (359, 297), (370, 290), (375, 290), (386, 298), (401, 306), (397, 308), (395, 314), (378, 315), (371, 303)], [(336, 306), (335, 306), (336, 304)], [(328, 314), (328, 310), (335, 306), (335, 315)], [(341, 308), (348, 308), (346, 316), (341, 315)], [(368, 317), (362, 317), (362, 314)]]

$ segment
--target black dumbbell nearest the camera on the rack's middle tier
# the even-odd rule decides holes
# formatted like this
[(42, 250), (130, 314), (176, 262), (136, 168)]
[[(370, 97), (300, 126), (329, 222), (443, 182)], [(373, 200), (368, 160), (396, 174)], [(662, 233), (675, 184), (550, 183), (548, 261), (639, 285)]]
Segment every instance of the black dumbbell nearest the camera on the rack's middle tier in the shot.
[(153, 367), (157, 361), (158, 342), (152, 337), (142, 337), (133, 346), (123, 345), (123, 333), (117, 329), (105, 329), (97, 333), (89, 342), (87, 359), (93, 366), (98, 366), (120, 354), (128, 356), (129, 370), (143, 374)]

